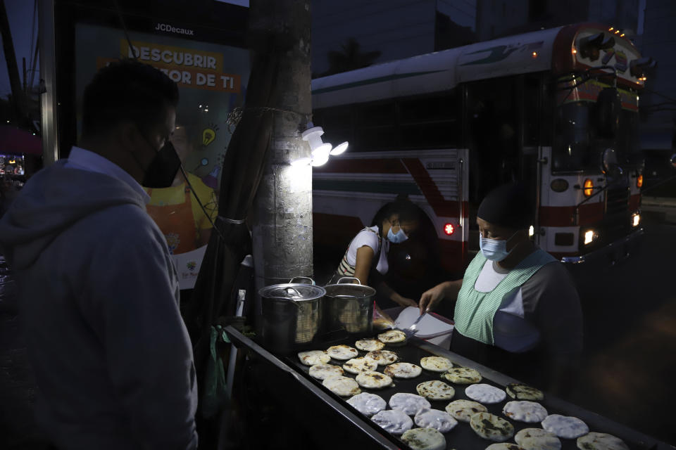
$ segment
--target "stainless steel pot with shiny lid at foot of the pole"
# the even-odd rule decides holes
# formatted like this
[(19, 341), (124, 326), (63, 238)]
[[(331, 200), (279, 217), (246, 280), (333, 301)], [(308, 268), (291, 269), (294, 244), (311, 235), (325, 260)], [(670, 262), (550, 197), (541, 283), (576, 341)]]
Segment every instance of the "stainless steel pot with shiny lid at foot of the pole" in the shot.
[[(294, 283), (308, 279), (312, 284)], [(322, 299), (326, 291), (315, 286), (311, 278), (296, 277), (289, 283), (265, 286), (261, 297), (258, 335), (263, 347), (279, 353), (290, 353), (310, 345), (322, 323)]]

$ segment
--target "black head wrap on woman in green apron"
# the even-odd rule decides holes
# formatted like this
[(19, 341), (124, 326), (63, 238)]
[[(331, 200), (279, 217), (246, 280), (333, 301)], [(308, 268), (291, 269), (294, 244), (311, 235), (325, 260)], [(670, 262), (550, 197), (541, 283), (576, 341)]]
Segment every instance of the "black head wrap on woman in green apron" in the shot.
[(511, 229), (527, 229), (533, 222), (530, 191), (523, 183), (503, 184), (484, 198), (477, 217)]

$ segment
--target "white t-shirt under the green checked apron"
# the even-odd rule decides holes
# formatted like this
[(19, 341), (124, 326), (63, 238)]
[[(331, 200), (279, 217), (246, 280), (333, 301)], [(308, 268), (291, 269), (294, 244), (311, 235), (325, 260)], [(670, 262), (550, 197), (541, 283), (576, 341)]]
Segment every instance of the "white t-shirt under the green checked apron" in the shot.
[[(490, 259), (486, 261), (474, 284), (480, 293), (489, 293), (503, 281), (509, 271), (501, 269)], [(493, 341), (496, 347), (508, 352), (526, 352), (537, 345), (540, 333), (525, 319), (522, 289), (517, 288), (502, 298), (493, 316)]]

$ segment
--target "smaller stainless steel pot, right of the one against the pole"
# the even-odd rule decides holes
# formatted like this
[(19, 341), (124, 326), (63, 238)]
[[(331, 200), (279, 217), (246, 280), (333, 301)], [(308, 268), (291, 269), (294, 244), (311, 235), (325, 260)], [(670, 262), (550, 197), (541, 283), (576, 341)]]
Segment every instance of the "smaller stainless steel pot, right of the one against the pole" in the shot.
[[(359, 284), (354, 284), (357, 281)], [(361, 284), (358, 278), (345, 276), (337, 284), (324, 287), (324, 320), (327, 331), (344, 329), (353, 335), (373, 330), (375, 289)]]

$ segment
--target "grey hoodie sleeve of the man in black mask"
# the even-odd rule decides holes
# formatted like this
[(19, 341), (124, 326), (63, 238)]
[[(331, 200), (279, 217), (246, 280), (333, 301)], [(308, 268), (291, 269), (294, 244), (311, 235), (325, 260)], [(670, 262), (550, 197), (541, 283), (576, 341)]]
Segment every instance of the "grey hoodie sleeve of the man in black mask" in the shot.
[(82, 311), (143, 448), (194, 449), (197, 395), (177, 280), (154, 224), (130, 221), (92, 259)]

